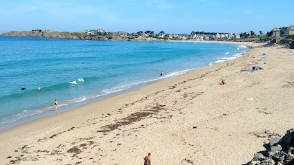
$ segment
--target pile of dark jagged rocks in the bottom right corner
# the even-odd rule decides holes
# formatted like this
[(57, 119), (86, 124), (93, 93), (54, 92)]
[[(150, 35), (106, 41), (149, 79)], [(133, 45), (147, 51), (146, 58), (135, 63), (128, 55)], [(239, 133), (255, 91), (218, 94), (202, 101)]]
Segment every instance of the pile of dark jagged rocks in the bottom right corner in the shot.
[(275, 137), (264, 142), (266, 151), (255, 153), (246, 165), (294, 164), (294, 129), (287, 131), (284, 137)]

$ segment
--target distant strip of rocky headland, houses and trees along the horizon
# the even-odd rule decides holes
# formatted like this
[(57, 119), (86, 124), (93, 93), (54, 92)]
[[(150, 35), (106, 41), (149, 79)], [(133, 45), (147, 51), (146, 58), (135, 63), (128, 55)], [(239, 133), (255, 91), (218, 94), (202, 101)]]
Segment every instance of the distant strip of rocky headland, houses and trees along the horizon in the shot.
[[(147, 30), (145, 32), (128, 33), (124, 31), (106, 32), (105, 30), (86, 30), (85, 32), (57, 32), (50, 30), (12, 31), (3, 32), (1, 36), (23, 36), (38, 37), (46, 39), (81, 39), (96, 41), (235, 41), (235, 42), (267, 42), (289, 44), (294, 39), (294, 25), (273, 28), (270, 32), (259, 31), (243, 33), (224, 32), (197, 32), (190, 34), (168, 34), (164, 31), (155, 33)], [(292, 47), (293, 43), (292, 43)]]

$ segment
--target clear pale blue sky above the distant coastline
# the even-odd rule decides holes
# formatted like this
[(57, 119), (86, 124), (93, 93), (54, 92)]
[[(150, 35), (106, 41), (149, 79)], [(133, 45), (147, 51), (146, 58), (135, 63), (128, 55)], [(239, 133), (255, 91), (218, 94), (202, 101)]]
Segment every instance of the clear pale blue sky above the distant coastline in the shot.
[(46, 29), (266, 33), (294, 24), (293, 0), (0, 0), (0, 33)]

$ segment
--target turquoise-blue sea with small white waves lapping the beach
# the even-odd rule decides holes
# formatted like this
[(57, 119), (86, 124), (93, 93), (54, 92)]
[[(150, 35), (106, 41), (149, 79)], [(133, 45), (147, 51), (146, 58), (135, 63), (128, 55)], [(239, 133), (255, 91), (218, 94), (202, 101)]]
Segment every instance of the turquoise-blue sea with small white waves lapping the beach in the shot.
[[(61, 109), (86, 103), (233, 59), (246, 50), (214, 43), (0, 37), (0, 124), (52, 111), (55, 99)], [(159, 76), (161, 71), (166, 76)]]

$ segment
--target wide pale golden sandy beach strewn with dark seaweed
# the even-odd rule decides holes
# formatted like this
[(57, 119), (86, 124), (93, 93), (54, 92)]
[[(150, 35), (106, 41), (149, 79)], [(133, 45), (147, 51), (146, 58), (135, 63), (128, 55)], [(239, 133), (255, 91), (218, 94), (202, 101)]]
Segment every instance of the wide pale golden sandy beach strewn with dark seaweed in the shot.
[[(153, 164), (244, 164), (294, 126), (293, 53), (255, 48), (14, 127), (0, 134), (0, 164), (143, 164), (149, 152)], [(241, 72), (254, 65), (264, 69)], [(223, 78), (228, 85), (218, 85)]]

